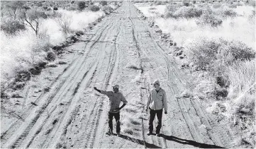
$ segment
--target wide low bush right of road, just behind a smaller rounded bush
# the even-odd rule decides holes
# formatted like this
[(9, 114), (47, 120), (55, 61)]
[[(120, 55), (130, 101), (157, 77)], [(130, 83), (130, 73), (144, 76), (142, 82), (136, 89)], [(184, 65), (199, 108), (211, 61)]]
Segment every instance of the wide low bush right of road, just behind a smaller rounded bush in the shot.
[(201, 8), (194, 8), (192, 6), (182, 6), (175, 11), (174, 18), (194, 18), (200, 17), (203, 11)]

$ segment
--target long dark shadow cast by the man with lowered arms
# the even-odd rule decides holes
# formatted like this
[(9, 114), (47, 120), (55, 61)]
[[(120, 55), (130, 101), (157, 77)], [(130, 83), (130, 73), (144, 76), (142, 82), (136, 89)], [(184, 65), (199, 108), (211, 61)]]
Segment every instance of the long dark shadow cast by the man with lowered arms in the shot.
[(177, 138), (175, 136), (166, 136), (165, 134), (162, 134), (162, 133), (161, 133), (161, 136), (162, 136), (162, 138), (165, 138), (168, 141), (175, 141), (177, 143), (193, 145), (194, 147), (197, 147), (197, 148), (223, 148), (223, 147), (217, 146), (217, 145), (198, 143), (196, 141), (190, 141), (190, 140), (186, 140), (186, 139), (182, 139), (182, 138)]

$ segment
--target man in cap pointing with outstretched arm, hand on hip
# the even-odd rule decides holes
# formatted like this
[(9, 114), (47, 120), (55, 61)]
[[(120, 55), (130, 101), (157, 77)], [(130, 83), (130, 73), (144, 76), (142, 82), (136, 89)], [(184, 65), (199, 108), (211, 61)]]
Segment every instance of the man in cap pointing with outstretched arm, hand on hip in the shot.
[[(126, 98), (123, 97), (122, 93), (119, 93), (119, 85), (113, 85), (113, 91), (104, 91), (98, 90), (94, 87), (94, 90), (98, 91), (101, 94), (108, 96), (108, 132), (106, 134), (113, 135), (113, 117), (116, 119), (116, 134), (120, 134), (120, 110), (127, 104)], [(123, 105), (119, 107), (120, 103), (123, 102)]]

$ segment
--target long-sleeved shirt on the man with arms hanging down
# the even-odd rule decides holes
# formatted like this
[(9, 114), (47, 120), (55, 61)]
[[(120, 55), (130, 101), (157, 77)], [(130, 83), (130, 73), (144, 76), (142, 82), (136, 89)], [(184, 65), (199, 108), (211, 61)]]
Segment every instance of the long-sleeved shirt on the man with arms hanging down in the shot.
[(148, 107), (154, 110), (165, 108), (165, 111), (167, 111), (167, 99), (165, 90), (160, 88), (158, 93), (155, 89), (150, 90), (150, 95), (148, 96), (146, 108), (148, 109)]

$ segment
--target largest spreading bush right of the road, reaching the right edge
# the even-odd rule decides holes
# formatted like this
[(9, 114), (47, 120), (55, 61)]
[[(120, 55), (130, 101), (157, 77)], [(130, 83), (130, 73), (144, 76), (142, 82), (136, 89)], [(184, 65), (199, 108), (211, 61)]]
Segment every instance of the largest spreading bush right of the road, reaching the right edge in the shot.
[(255, 58), (255, 52), (243, 42), (227, 41), (221, 38), (201, 38), (187, 44), (185, 50), (190, 61), (202, 70), (229, 66), (235, 61), (245, 61)]

